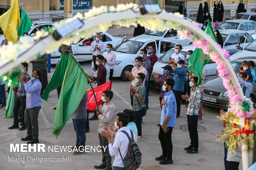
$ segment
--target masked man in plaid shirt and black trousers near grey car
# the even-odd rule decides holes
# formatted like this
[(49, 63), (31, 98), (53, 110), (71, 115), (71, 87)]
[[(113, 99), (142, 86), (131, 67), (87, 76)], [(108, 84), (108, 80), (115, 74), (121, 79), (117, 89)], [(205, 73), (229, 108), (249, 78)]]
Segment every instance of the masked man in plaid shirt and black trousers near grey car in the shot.
[(190, 81), (191, 92), (189, 95), (182, 95), (182, 98), (188, 100), (187, 108), (187, 126), (190, 134), (190, 145), (185, 147), (185, 151), (188, 154), (198, 153), (198, 133), (197, 133), (197, 121), (198, 111), (201, 102), (201, 91), (197, 88), (198, 77), (192, 77)]

